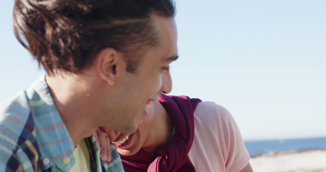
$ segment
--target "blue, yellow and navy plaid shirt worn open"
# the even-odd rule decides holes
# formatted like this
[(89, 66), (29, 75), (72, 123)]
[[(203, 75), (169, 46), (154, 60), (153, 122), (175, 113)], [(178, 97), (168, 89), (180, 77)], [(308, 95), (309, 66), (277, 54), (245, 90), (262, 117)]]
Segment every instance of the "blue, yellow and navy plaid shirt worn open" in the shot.
[[(91, 171), (124, 171), (111, 145), (112, 161), (101, 162), (94, 136), (84, 138)], [(0, 171), (69, 171), (75, 146), (56, 109), (45, 76), (0, 103)]]

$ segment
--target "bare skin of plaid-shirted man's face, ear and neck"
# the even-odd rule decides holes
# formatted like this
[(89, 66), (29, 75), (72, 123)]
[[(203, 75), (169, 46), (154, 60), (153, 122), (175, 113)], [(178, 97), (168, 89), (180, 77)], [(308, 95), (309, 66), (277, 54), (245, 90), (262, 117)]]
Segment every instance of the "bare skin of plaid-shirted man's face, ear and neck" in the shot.
[[(159, 92), (169, 93), (169, 64), (178, 58), (174, 18), (152, 14), (159, 45), (144, 52), (135, 73), (126, 71), (124, 54), (101, 50), (82, 73), (55, 71), (46, 81), (55, 105), (77, 146), (98, 126), (134, 133)], [(83, 127), (80, 127), (83, 126)]]

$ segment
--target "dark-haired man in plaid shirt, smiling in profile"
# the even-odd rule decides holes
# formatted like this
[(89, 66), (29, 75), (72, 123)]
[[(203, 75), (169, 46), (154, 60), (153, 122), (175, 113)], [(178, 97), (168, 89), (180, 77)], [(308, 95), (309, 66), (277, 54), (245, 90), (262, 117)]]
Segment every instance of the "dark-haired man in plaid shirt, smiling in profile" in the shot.
[(0, 171), (123, 171), (93, 133), (135, 132), (170, 92), (174, 15), (171, 0), (16, 0), (15, 35), (47, 74), (0, 103)]

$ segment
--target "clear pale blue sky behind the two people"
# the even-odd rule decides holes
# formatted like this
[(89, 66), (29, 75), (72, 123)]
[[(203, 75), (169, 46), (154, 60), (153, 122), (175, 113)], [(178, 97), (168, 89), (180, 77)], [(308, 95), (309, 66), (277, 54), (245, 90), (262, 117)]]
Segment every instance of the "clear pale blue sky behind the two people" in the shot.
[[(43, 71), (0, 7), (0, 101)], [(326, 1), (177, 0), (171, 94), (214, 101), (245, 140), (326, 136)]]

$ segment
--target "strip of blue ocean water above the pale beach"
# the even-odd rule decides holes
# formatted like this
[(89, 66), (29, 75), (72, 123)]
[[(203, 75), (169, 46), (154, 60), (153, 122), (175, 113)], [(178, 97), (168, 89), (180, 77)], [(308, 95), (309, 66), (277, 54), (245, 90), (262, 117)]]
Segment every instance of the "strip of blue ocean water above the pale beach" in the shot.
[(326, 149), (326, 137), (244, 141), (244, 144), (250, 154), (266, 153), (269, 151)]

